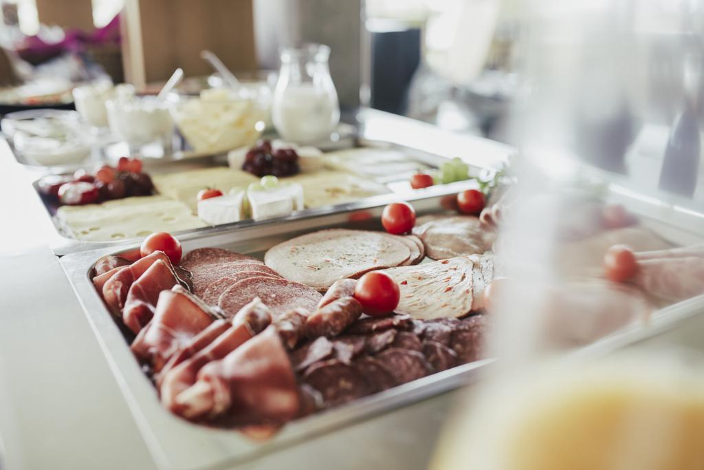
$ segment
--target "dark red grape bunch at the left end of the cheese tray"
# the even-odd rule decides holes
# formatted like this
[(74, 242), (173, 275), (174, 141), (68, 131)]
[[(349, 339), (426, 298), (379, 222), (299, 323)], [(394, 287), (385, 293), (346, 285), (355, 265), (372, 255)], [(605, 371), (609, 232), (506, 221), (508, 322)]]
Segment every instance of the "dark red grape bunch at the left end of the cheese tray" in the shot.
[(94, 175), (78, 170), (68, 175), (46, 176), (39, 180), (39, 191), (57, 198), (60, 204), (80, 205), (149, 196), (154, 190), (151, 178), (142, 173), (142, 161), (122, 157), (117, 168), (101, 166)]

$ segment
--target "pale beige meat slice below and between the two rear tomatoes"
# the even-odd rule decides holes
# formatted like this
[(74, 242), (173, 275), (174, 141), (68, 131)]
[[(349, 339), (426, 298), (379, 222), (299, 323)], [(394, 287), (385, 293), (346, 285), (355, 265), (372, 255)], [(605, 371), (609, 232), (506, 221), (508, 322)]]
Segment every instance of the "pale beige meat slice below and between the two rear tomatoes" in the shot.
[(413, 234), (420, 237), (425, 254), (432, 259), (483, 254), (496, 240), (494, 228), (474, 216), (421, 218)]

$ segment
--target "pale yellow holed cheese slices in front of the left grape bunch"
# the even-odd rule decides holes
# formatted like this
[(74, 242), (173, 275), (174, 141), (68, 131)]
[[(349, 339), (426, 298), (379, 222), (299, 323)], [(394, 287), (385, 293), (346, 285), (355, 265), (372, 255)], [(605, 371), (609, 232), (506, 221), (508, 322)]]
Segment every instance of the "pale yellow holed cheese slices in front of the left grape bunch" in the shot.
[(72, 238), (111, 242), (153, 232), (206, 227), (188, 206), (163, 196), (127, 197), (84, 206), (61, 206), (56, 220)]

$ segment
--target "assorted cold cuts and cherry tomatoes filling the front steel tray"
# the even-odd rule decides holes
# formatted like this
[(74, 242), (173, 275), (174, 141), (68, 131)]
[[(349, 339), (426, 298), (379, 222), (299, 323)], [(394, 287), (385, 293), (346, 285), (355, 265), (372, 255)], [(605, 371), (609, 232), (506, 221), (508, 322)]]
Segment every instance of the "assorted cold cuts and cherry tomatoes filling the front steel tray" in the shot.
[[(175, 238), (156, 233), (139, 253), (99, 259), (93, 284), (166, 409), (262, 437), (291, 419), (484, 357), (491, 292), (510, 283), (501, 250), (510, 241), (497, 237), (509, 209), (501, 200), (485, 204), (483, 194), (456, 203), (419, 218), (410, 204), (389, 204), (384, 230), (313, 231), (259, 257), (220, 247), (182, 256)], [(611, 333), (656, 298), (702, 293), (704, 283), (672, 288), (662, 276), (681, 270), (700, 279), (700, 247), (671, 247), (620, 206), (582, 209), (592, 211), (589, 227), (584, 218), (565, 221), (560, 249), (575, 240), (593, 245), (601, 280), (555, 288), (560, 321), (602, 292), (616, 292), (609, 305), (623, 319), (612, 314), (593, 338), (579, 340)], [(614, 240), (658, 251), (612, 247)]]

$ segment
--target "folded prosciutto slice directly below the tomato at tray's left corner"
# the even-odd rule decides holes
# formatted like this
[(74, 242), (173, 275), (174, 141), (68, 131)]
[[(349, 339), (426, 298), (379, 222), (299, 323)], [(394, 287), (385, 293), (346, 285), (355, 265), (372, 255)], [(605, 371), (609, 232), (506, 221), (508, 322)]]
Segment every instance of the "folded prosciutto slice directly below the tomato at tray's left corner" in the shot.
[[(119, 273), (115, 276), (118, 275)], [(122, 309), (122, 322), (134, 333), (139, 333), (151, 320), (161, 291), (170, 290), (177, 284), (178, 280), (170, 266), (162, 259), (156, 260), (130, 285), (125, 308)]]

